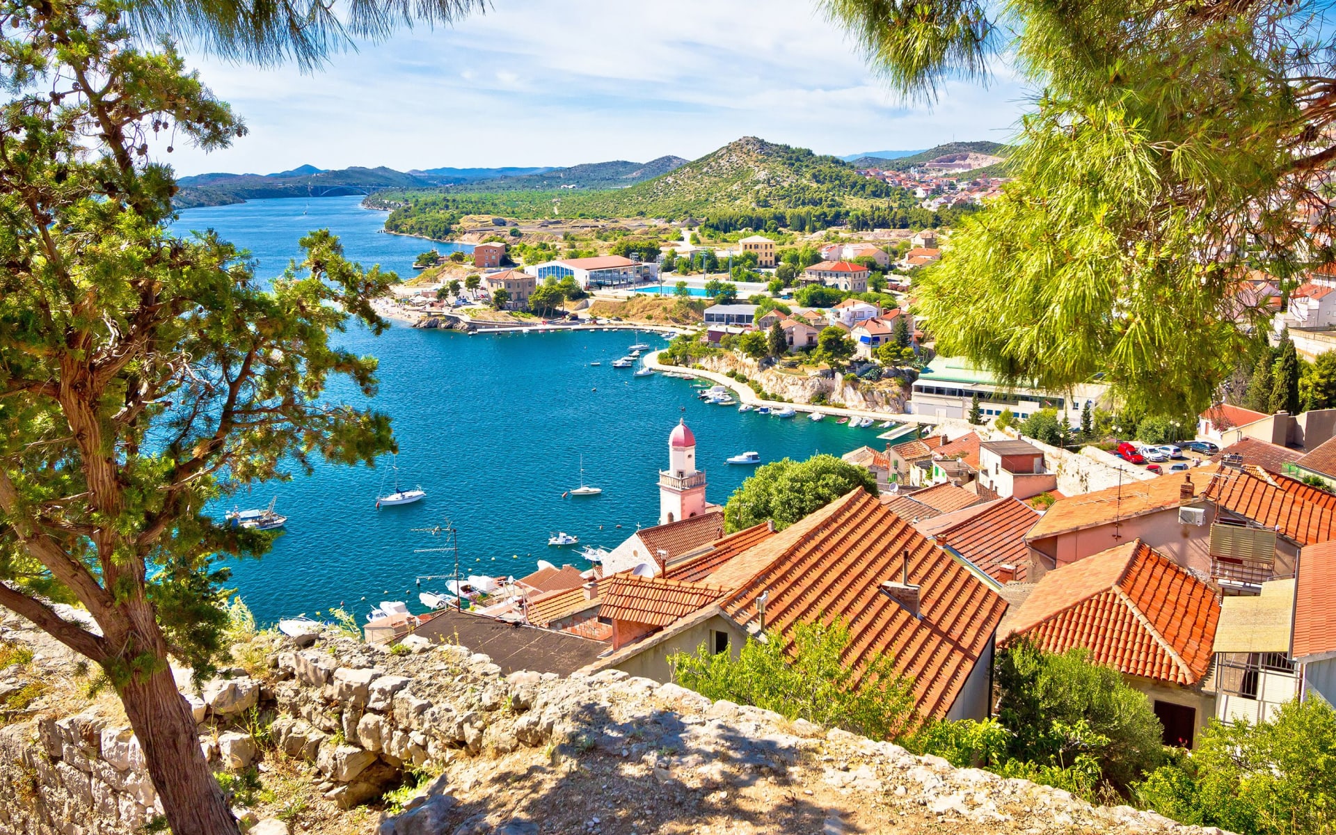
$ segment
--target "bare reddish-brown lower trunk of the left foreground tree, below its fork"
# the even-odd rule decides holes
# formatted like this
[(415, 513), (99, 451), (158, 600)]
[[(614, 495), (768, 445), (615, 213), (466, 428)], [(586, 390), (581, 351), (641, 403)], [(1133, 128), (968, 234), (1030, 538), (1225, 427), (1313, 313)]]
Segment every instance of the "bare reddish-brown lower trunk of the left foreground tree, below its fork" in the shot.
[(236, 835), (236, 819), (199, 749), (195, 717), (171, 669), (120, 693), (174, 835)]

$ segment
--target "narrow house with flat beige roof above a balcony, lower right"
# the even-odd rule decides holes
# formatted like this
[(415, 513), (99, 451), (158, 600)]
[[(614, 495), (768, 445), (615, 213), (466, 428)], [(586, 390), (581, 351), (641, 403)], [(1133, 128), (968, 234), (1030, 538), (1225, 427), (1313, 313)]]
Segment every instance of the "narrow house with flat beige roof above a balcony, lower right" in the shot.
[(1268, 580), (1261, 593), (1220, 601), (1213, 652), (1216, 669), (1208, 689), (1216, 693), (1216, 719), (1225, 724), (1268, 721), (1299, 695), (1289, 657), (1295, 580)]

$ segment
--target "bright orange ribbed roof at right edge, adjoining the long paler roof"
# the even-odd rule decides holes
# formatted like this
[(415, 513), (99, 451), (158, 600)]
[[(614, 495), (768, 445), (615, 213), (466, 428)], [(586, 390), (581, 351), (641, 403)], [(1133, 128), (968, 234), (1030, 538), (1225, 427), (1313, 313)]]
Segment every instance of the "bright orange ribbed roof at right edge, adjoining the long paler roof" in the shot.
[(1336, 494), (1261, 468), (1221, 468), (1206, 490), (1217, 506), (1242, 516), (1300, 545), (1336, 538)]

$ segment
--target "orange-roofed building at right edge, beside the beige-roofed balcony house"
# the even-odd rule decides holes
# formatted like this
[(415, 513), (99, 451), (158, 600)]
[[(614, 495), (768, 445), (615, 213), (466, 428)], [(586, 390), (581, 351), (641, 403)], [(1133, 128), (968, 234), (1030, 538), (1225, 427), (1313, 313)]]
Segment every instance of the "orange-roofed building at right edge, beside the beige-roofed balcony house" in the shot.
[(1336, 705), (1336, 541), (1303, 550), (1289, 657), (1299, 665), (1303, 697)]

